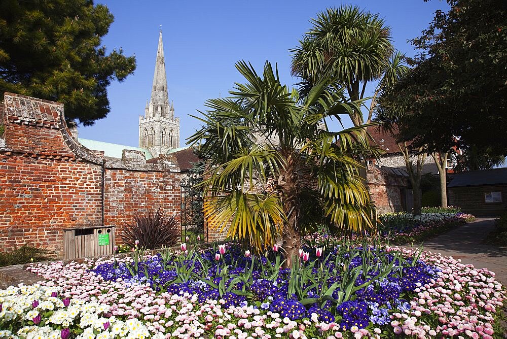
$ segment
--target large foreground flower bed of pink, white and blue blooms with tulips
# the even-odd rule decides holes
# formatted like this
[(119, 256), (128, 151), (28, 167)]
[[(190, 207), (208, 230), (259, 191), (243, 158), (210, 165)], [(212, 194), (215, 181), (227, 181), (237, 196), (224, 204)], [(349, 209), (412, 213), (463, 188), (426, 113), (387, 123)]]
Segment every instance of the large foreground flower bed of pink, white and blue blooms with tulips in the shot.
[[(432, 253), (343, 247), (325, 257), (303, 252), (301, 266), (292, 270), (279, 269), (277, 253), (254, 257), (239, 253), (238, 247), (141, 261), (34, 264), (29, 270), (49, 281), (0, 290), (0, 337), (490, 337), (498, 333), (496, 311), (505, 294), (494, 273)], [(201, 267), (196, 267), (201, 262), (196, 257), (203, 260)], [(208, 276), (202, 275), (204, 266)], [(365, 270), (370, 271), (365, 274)], [(192, 272), (201, 274), (201, 279)], [(321, 276), (324, 272), (329, 274)], [(304, 281), (305, 277), (311, 279)], [(298, 282), (302, 286), (296, 286)], [(314, 283), (317, 286), (312, 287)], [(332, 290), (335, 283), (338, 288)], [(352, 293), (347, 297), (348, 290)]]

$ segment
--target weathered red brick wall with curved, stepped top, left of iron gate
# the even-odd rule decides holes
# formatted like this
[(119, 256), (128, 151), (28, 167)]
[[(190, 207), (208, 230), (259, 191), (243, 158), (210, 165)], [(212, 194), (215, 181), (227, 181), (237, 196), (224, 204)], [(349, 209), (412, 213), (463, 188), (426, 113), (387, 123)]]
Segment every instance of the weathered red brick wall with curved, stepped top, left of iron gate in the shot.
[(170, 156), (147, 164), (136, 151), (124, 159), (92, 152), (71, 138), (63, 106), (51, 101), (6, 93), (2, 116), (0, 251), (29, 244), (61, 256), (64, 228), (105, 224), (121, 234), (134, 215), (158, 207), (179, 222)]

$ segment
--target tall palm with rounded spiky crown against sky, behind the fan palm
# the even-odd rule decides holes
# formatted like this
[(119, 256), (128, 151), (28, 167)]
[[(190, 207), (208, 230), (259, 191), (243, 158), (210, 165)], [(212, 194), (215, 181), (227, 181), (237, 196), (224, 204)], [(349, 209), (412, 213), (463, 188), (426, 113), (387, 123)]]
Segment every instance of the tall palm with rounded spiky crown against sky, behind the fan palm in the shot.
[[(302, 97), (322, 78), (335, 79), (335, 85), (345, 86), (351, 101), (365, 98), (369, 82), (378, 81), (368, 108), (366, 124), (372, 121), (377, 97), (392, 86), (408, 67), (403, 55), (394, 52), (390, 28), (378, 14), (357, 6), (328, 9), (312, 19), (308, 31), (293, 53), (292, 73), (302, 81), (298, 84)], [(360, 109), (349, 113), (354, 126), (363, 125)]]

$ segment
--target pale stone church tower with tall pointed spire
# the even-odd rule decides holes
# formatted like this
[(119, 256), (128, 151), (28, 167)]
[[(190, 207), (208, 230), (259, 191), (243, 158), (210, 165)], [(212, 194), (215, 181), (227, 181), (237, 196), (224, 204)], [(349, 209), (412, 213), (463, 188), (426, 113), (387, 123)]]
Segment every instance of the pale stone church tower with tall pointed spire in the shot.
[(174, 104), (171, 102), (169, 105), (162, 28), (160, 28), (155, 62), (152, 96), (146, 103), (144, 117), (139, 116), (139, 147), (148, 149), (154, 157), (179, 147), (179, 118), (174, 117)]

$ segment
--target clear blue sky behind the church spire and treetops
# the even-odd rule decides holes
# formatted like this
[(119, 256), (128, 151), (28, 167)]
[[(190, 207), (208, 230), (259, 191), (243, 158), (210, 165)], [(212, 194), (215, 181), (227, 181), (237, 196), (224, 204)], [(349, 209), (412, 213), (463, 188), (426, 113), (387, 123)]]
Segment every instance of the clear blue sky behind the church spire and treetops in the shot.
[[(445, 2), (404, 1), (99, 1), (115, 16), (103, 38), (108, 50), (135, 53), (137, 69), (124, 82), (108, 87), (111, 113), (93, 126), (80, 126), (80, 138), (137, 146), (139, 115), (150, 97), (159, 25), (162, 25), (169, 99), (180, 118), (185, 146), (199, 122), (189, 114), (205, 110), (204, 101), (227, 96), (243, 82), (234, 64), (250, 61), (258, 71), (269, 60), (278, 64), (282, 83), (298, 82), (290, 74), (290, 48), (311, 27), (309, 20), (329, 7), (357, 5), (379, 13), (391, 27), (396, 49), (414, 55), (408, 39), (420, 35)], [(344, 124), (350, 125), (348, 119)]]

